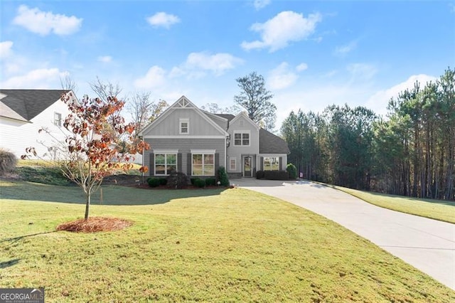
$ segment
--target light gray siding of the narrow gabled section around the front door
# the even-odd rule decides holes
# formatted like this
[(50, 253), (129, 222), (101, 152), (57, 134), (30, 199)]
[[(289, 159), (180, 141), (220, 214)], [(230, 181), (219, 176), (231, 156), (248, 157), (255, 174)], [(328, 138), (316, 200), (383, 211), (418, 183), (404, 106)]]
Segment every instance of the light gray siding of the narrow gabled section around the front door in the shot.
[[(228, 167), (226, 168), (228, 172), (230, 173), (241, 173), (242, 172), (242, 165), (243, 165), (243, 159), (242, 156), (245, 155), (257, 155), (259, 154), (259, 131), (257, 127), (252, 124), (250, 121), (245, 119), (245, 117), (238, 117), (238, 119), (235, 119), (235, 121), (231, 121), (229, 125), (228, 132), (230, 134), (230, 145), (228, 147)], [(235, 146), (234, 145), (234, 133), (235, 132), (250, 132), (250, 146), (245, 147), (245, 146)], [(235, 158), (236, 162), (236, 169), (231, 170), (230, 169), (230, 159)], [(257, 163), (257, 161), (253, 162), (254, 164)], [(253, 167), (253, 169), (256, 169), (256, 167)]]

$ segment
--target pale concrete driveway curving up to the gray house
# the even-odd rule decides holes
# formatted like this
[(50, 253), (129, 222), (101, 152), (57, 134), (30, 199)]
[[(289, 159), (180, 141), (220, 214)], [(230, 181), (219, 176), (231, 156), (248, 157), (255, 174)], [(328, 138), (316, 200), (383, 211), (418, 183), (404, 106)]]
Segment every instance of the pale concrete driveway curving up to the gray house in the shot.
[(309, 181), (232, 179), (231, 184), (281, 198), (333, 220), (455, 289), (454, 224), (373, 206)]

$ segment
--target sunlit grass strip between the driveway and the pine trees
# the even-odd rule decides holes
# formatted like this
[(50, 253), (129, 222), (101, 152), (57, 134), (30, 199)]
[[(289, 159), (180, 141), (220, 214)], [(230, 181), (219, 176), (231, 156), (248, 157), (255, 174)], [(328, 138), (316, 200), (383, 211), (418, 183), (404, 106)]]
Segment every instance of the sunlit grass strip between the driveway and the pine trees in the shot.
[(454, 201), (387, 195), (385, 193), (358, 191), (356, 189), (330, 184), (323, 185), (339, 189), (340, 191), (349, 193), (350, 195), (360, 198), (363, 201), (383, 208), (388, 208), (393, 211), (400, 211), (402, 213), (410, 213), (411, 215), (455, 223)]

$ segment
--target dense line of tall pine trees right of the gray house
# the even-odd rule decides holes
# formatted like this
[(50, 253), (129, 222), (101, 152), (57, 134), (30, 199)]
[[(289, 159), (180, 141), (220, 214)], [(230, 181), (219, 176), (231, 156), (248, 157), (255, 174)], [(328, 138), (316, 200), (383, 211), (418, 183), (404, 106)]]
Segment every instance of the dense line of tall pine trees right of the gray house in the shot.
[(400, 92), (378, 117), (331, 105), (291, 112), (281, 128), (305, 179), (419, 198), (455, 200), (455, 69)]

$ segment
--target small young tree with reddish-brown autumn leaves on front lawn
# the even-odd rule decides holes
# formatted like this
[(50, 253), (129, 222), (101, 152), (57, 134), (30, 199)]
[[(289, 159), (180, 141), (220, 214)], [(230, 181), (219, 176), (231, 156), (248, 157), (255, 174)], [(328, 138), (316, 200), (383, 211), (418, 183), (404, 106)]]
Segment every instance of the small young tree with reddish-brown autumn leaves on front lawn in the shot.
[[(67, 159), (60, 161), (63, 175), (82, 188), (85, 193), (85, 220), (88, 219), (92, 193), (101, 186), (105, 176), (113, 174), (117, 169), (132, 169), (129, 163), (130, 154), (141, 153), (149, 148), (142, 140), (134, 139), (134, 124), (125, 124), (123, 117), (115, 115), (124, 106), (117, 97), (90, 99), (85, 96), (82, 102), (74, 102), (71, 93), (62, 95), (68, 105), (70, 115), (66, 117), (63, 127), (67, 135), (64, 147), (68, 152)], [(48, 132), (40, 129), (40, 132)], [(117, 138), (122, 136), (129, 140), (129, 153), (119, 153)], [(33, 147), (26, 149), (28, 154), (37, 156)], [(24, 159), (26, 156), (22, 156)], [(147, 171), (145, 166), (140, 171)]]

